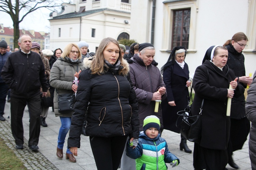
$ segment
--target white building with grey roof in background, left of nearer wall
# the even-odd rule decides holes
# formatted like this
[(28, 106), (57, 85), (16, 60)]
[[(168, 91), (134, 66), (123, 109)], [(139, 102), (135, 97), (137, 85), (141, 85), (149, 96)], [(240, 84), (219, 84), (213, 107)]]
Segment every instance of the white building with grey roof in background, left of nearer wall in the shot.
[(69, 43), (86, 41), (90, 52), (95, 52), (105, 37), (129, 38), (130, 1), (74, 0), (74, 4), (63, 3), (60, 13), (50, 14), (50, 49), (64, 49)]

